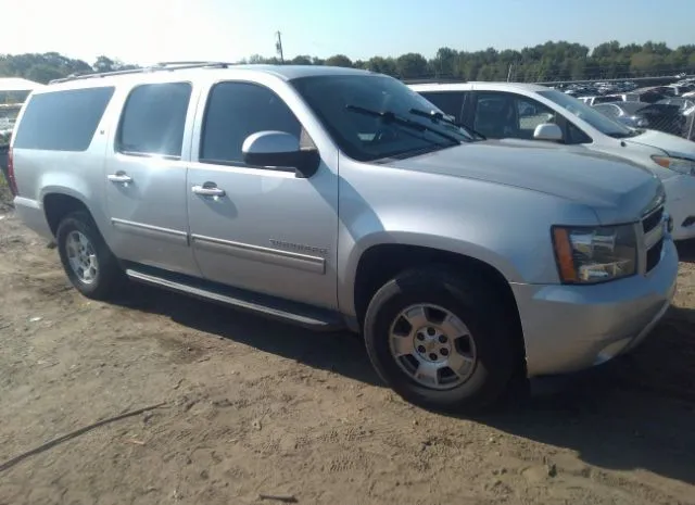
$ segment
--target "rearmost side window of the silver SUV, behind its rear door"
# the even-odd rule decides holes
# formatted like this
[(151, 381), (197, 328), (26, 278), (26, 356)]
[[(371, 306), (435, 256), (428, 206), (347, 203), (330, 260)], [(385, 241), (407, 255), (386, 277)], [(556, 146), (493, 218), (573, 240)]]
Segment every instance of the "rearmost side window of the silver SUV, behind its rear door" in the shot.
[(15, 149), (86, 151), (101, 121), (113, 87), (35, 94), (15, 135)]

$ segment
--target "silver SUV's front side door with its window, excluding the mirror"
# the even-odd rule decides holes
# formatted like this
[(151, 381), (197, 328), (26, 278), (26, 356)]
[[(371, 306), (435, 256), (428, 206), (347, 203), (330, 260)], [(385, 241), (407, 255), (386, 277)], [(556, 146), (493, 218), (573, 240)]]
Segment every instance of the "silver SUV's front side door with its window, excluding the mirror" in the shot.
[(321, 161), (311, 178), (298, 178), (294, 171), (243, 162), (242, 143), (257, 131), (313, 142), (287, 103), (258, 84), (214, 85), (200, 130), (187, 189), (191, 243), (204, 277), (333, 308), (337, 167)]

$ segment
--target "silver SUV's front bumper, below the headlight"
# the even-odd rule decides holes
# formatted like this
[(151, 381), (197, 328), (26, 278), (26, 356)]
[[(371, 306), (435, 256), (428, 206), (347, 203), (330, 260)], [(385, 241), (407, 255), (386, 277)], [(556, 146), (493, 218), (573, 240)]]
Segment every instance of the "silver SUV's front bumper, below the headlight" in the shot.
[(666, 240), (647, 275), (594, 286), (513, 285), (529, 377), (579, 371), (637, 345), (670, 306), (678, 253)]

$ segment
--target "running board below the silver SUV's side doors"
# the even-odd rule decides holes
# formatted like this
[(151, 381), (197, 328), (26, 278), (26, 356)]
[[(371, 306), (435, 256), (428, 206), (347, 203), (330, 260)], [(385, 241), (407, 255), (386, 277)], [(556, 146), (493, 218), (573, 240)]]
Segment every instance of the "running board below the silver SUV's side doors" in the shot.
[(240, 290), (141, 265), (126, 268), (126, 275), (136, 282), (208, 300), (271, 319), (299, 325), (314, 331), (338, 331), (345, 328), (340, 314), (303, 303)]

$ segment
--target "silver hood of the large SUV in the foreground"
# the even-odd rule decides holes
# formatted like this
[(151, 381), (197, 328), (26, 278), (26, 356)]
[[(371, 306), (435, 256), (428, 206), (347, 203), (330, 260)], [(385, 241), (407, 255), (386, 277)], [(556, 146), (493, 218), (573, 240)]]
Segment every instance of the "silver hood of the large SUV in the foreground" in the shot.
[(586, 149), (525, 140), (486, 140), (388, 163), (552, 194), (594, 209), (601, 223), (631, 223), (664, 187), (646, 168)]

